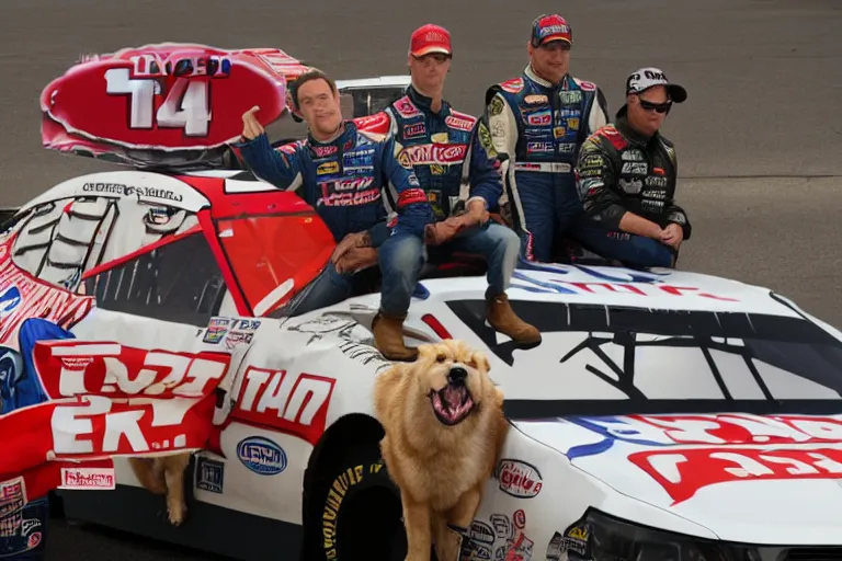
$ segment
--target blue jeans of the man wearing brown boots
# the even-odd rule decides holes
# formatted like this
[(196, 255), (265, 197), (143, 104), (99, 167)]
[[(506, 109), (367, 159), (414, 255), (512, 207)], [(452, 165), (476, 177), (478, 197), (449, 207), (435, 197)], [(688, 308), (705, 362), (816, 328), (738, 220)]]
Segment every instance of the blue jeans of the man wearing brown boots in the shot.
[[(403, 316), (424, 265), (424, 242), (421, 238), (398, 231), (379, 250), (383, 287), (380, 311), (388, 316)], [(462, 251), (482, 255), (488, 263), (488, 295), (497, 296), (509, 288), (512, 272), (517, 264), (520, 239), (513, 230), (497, 222), (470, 230), (444, 245), (431, 248), (431, 253)]]

